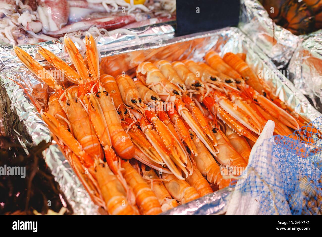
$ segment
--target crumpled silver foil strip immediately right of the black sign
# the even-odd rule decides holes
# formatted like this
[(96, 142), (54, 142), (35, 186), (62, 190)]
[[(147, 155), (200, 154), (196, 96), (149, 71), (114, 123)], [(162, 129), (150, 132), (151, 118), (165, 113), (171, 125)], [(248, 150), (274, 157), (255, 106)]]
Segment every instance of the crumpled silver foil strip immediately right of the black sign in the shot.
[(301, 37), (276, 25), (256, 0), (241, 0), (239, 27), (269, 56), (278, 69), (285, 69)]

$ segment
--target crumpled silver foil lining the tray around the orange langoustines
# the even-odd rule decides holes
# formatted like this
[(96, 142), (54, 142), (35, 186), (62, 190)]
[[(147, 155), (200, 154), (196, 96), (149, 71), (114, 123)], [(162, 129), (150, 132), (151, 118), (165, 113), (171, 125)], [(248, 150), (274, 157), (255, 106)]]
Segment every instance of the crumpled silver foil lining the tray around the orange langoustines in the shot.
[[(150, 32), (150, 34), (146, 34)], [(155, 32), (155, 34), (152, 34)], [(210, 49), (214, 49), (223, 56), (227, 52), (245, 53), (247, 54), (247, 63), (252, 67), (254, 72), (260, 69), (277, 70), (276, 66), (270, 59), (260, 50), (260, 48), (235, 27), (224, 28), (221, 30), (210, 31), (206, 33), (197, 33), (188, 36), (174, 37), (174, 30), (171, 25), (152, 25), (142, 29), (140, 33), (140, 42), (137, 42), (133, 35), (112, 35), (98, 38), (98, 50), (101, 53), (102, 62), (117, 62), (120, 58), (129, 60), (128, 73), (133, 72), (139, 61), (133, 56), (143, 55), (143, 60), (172, 59), (180, 60), (191, 58), (196, 61), (202, 61), (202, 58)], [(44, 48), (52, 51), (62, 59), (67, 59), (67, 53), (62, 50), (62, 44), (44, 42), (40, 44)], [(41, 90), (45, 87), (35, 76), (29, 72), (24, 65), (20, 63), (13, 54), (11, 47), (1, 46), (0, 51), (1, 65), (1, 103), (7, 104), (6, 116), (16, 114), (15, 121), (22, 127), (21, 130), (11, 131), (23, 144), (38, 144), (42, 140), (50, 140), (50, 132), (41, 120), (37, 110), (24, 90), (12, 82), (20, 83), (24, 89), (37, 97), (38, 100), (33, 102), (42, 107), (46, 104), (43, 99), (47, 98), (47, 90)], [(43, 61), (40, 55), (35, 51), (33, 45), (22, 47), (38, 61)], [(5, 51), (5, 52), (4, 52)], [(46, 62), (42, 62), (46, 65)], [(48, 65), (48, 64), (47, 64)], [(120, 68), (121, 70), (122, 68)], [(105, 68), (109, 70), (109, 68)], [(113, 68), (115, 70), (115, 68)], [(283, 75), (278, 77), (265, 78), (272, 86), (275, 87), (275, 94), (280, 99), (294, 108), (294, 110), (306, 116), (309, 120), (313, 120), (321, 116), (314, 107), (308, 102), (306, 97), (298, 92), (293, 84)], [(32, 89), (34, 88), (34, 89)], [(36, 88), (36, 89), (35, 89)], [(5, 100), (4, 100), (5, 99)], [(3, 116), (2, 116), (3, 117)], [(12, 128), (12, 124), (8, 123), (8, 129)], [(27, 139), (29, 138), (29, 139)], [(62, 192), (64, 192), (75, 214), (96, 214), (97, 206), (93, 204), (83, 185), (76, 177), (69, 163), (65, 160), (64, 155), (58, 149), (57, 144), (52, 144), (45, 151), (45, 159), (48, 166), (52, 170), (52, 174), (56, 177), (56, 181), (60, 184)], [(217, 191), (206, 197), (202, 197), (193, 202), (182, 205), (176, 209), (166, 212), (166, 214), (221, 214), (225, 212), (225, 205), (232, 189), (224, 189)]]

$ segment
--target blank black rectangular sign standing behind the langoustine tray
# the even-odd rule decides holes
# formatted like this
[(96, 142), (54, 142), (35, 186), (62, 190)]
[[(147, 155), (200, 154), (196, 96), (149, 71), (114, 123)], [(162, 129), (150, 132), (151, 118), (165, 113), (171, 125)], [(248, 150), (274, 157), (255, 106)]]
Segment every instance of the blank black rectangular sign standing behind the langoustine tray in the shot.
[(176, 35), (236, 26), (240, 0), (176, 0)]

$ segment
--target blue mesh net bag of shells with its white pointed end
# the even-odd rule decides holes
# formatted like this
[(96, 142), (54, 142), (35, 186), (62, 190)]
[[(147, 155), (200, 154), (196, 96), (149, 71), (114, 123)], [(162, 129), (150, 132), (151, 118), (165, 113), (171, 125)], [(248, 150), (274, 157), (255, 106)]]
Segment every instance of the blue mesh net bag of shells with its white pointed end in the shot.
[(322, 214), (322, 117), (289, 136), (272, 136), (272, 121), (264, 130), (251, 151), (247, 177), (238, 179), (232, 198), (239, 202), (234, 208), (248, 209), (227, 212)]

